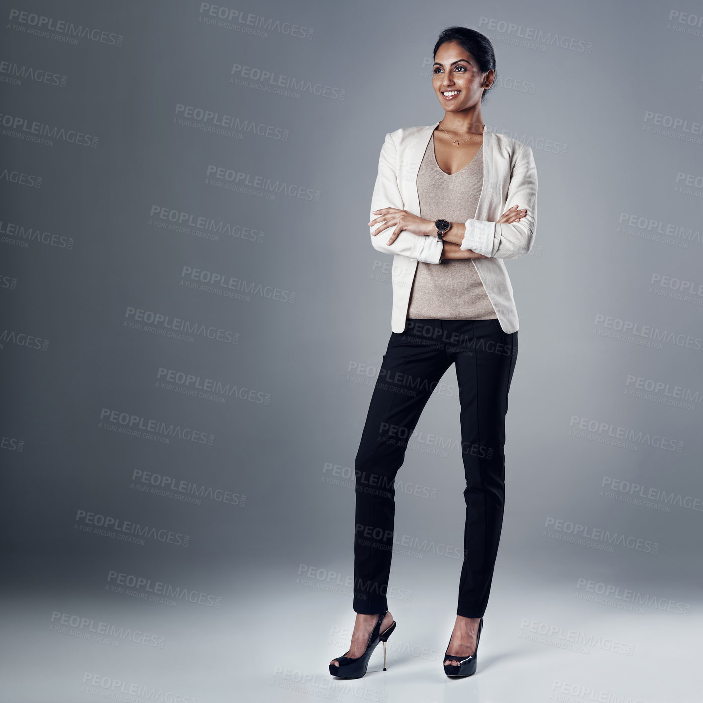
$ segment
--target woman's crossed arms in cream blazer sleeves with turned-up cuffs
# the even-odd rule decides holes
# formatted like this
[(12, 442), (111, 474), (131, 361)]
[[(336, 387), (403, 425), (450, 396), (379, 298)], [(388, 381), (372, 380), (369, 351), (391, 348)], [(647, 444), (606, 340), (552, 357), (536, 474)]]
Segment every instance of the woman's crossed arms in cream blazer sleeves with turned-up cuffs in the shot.
[[(376, 250), (404, 254), (428, 264), (439, 264), (441, 259), (516, 259), (529, 252), (534, 241), (537, 196), (537, 172), (529, 146), (522, 146), (517, 154), (507, 195), (508, 202), (522, 202), (526, 207), (518, 209), (513, 205), (495, 222), (474, 218), (453, 222), (444, 235), (444, 243), (437, 240), (433, 221), (402, 209), (396, 155), (389, 133), (381, 149), (368, 223)], [(378, 227), (374, 230), (375, 225)], [(380, 233), (384, 234), (379, 237)]]

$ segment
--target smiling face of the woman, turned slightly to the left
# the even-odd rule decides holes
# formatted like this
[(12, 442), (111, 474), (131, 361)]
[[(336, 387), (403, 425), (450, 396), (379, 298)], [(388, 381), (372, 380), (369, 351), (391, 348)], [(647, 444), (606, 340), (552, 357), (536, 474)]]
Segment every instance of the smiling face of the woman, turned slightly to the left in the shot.
[[(434, 55), (432, 87), (447, 112), (459, 112), (480, 103), (494, 71), (479, 70), (475, 58), (456, 41), (445, 41)], [(484, 86), (484, 80), (486, 86)]]

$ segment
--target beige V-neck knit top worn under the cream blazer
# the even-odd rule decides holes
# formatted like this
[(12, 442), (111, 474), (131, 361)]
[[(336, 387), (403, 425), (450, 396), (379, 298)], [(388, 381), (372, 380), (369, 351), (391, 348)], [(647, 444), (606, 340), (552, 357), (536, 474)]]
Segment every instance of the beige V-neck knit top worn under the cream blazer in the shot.
[[(483, 187), (483, 144), (469, 165), (447, 174), (437, 165), (434, 133), (418, 171), (420, 217), (465, 222), (475, 217)], [(473, 259), (418, 262), (410, 292), (408, 318), (491, 320), (496, 311), (486, 295)]]

